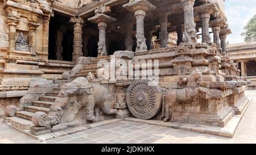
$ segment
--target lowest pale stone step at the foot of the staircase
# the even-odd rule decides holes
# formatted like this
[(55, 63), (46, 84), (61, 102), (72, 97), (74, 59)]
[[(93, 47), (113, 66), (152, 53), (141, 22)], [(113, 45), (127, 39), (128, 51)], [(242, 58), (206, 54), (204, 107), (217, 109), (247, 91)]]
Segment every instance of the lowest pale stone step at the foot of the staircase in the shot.
[(23, 119), (23, 118), (18, 118), (14, 117), (13, 119), (10, 119), (11, 125), (14, 127), (23, 129), (23, 130), (30, 130), (34, 124), (31, 122), (31, 120)]

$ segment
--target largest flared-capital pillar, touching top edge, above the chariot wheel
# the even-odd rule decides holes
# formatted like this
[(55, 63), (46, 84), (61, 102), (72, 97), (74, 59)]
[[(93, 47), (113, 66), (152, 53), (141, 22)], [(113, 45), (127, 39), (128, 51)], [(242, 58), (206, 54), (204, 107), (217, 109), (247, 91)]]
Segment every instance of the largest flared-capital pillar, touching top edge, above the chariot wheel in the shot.
[(134, 12), (136, 18), (136, 52), (147, 51), (146, 39), (144, 36), (144, 17), (146, 16), (146, 11), (155, 9), (156, 7), (146, 0), (130, 0), (129, 3), (123, 5), (123, 7)]

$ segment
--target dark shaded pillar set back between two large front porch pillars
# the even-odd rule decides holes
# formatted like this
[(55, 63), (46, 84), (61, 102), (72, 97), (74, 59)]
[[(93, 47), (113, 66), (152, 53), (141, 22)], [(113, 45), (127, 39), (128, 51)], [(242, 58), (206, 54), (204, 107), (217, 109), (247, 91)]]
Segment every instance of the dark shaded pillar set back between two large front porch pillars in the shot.
[(160, 22), (160, 44), (161, 48), (168, 47), (169, 33), (167, 31), (168, 26), (168, 14), (162, 14), (159, 16)]

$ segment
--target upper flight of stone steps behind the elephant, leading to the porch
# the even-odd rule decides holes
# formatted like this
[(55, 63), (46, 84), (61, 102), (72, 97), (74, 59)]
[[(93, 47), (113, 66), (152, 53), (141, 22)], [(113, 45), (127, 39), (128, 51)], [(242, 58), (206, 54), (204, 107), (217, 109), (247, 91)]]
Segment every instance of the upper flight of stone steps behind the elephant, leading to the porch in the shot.
[(87, 64), (86, 66), (84, 66), (84, 68), (82, 68), (76, 74), (76, 76), (74, 76), (72, 78), (86, 77), (88, 75), (88, 73), (92, 73), (92, 74), (94, 74), (95, 77), (97, 77), (96, 76), (96, 71), (98, 69), (98, 62), (101, 61), (101, 60), (106, 60), (106, 61), (110, 62), (110, 56), (97, 57), (95, 60), (93, 60), (92, 63)]

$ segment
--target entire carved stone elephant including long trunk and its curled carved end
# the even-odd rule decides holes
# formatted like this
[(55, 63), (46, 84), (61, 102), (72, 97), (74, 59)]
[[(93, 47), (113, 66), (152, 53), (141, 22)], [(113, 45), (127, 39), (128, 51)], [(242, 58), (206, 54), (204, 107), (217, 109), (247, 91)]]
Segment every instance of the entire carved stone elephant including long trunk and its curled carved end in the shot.
[[(85, 77), (79, 77), (70, 83), (66, 83), (61, 87), (59, 97), (60, 98), (55, 101), (55, 104), (50, 107), (48, 118), (42, 113), (34, 116), (35, 123), (33, 123), (35, 125), (49, 125), (49, 122), (51, 122), (50, 125), (60, 123), (61, 116), (63, 115), (63, 108), (67, 106), (69, 99), (72, 97), (76, 97), (79, 105), (69, 112), (70, 124), (74, 123), (75, 116), (82, 107), (85, 107), (86, 109), (86, 120), (89, 122), (97, 121), (94, 112), (96, 115), (99, 115), (99, 108), (101, 108), (105, 114), (117, 114), (117, 110), (112, 107), (108, 89), (101, 85), (89, 83), (88, 79)], [(45, 122), (42, 120), (45, 120)]]

